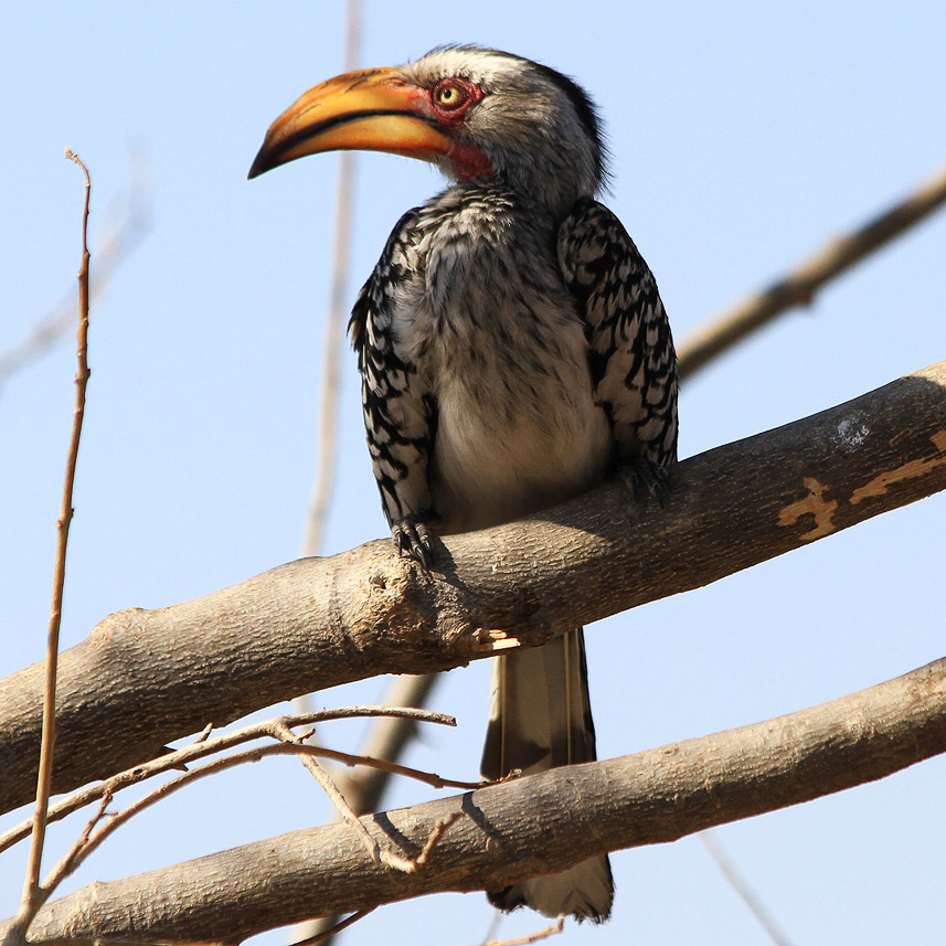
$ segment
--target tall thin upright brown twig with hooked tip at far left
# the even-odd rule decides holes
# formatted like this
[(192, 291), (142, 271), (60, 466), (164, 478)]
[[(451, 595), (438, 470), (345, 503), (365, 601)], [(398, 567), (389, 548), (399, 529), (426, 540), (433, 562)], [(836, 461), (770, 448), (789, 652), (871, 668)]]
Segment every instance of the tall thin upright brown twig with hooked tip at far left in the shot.
[(17, 914), (13, 936), (25, 936), (36, 911), (49, 896), (49, 891), (40, 887), (40, 865), (43, 859), (43, 846), (46, 838), (46, 812), (50, 805), (50, 786), (53, 773), (53, 746), (56, 740), (56, 668), (60, 652), (60, 625), (63, 614), (63, 588), (65, 586), (66, 551), (68, 531), (72, 524), (73, 490), (78, 463), (78, 444), (82, 437), (82, 421), (85, 415), (85, 391), (88, 384), (88, 204), (92, 195), (92, 178), (88, 168), (78, 155), (66, 148), (66, 158), (74, 161), (85, 174), (85, 201), (82, 213), (82, 262), (78, 268), (78, 336), (75, 373), (75, 407), (73, 410), (72, 434), (66, 454), (66, 471), (63, 482), (63, 501), (60, 518), (56, 521), (56, 560), (53, 570), (53, 599), (50, 607), (50, 626), (46, 638), (45, 682), (43, 689), (43, 735), (40, 743), (40, 770), (36, 779), (36, 807), (33, 814), (32, 844), (26, 865), (26, 878), (20, 897), (20, 911)]

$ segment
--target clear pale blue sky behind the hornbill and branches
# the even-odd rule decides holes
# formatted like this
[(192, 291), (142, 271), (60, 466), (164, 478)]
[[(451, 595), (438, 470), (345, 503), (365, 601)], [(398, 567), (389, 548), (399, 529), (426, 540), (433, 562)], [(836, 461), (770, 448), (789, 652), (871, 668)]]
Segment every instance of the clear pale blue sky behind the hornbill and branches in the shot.
[[(107, 614), (160, 607), (297, 554), (315, 464), (336, 158), (246, 181), (269, 125), (341, 68), (340, 3), (46, 3), (0, 14), (0, 352), (74, 286), (82, 179), (93, 232), (146, 157), (152, 225), (92, 330), (64, 646)], [(602, 107), (608, 204), (657, 275), (678, 340), (946, 160), (946, 8), (913, 2), (476, 4), (368, 0), (364, 65), (482, 42), (555, 66)], [(349, 296), (431, 168), (360, 156)], [(833, 284), (805, 312), (688, 383), (681, 455), (786, 423), (946, 357), (946, 217)], [(93, 259), (95, 266), (95, 259)], [(45, 637), (74, 355), (64, 344), (0, 391), (0, 676)], [(384, 533), (346, 348), (340, 479), (326, 551)], [(935, 497), (588, 633), (599, 751), (619, 755), (840, 697), (943, 656), (946, 504)], [(436, 708), (458, 732), (408, 762), (476, 772), (485, 662)], [(382, 683), (326, 693), (376, 702)], [(355, 726), (332, 731), (357, 742)], [(924, 942), (942, 928), (943, 759), (718, 832), (795, 943)], [(427, 797), (398, 785), (393, 805)], [(295, 763), (178, 796), (116, 836), (74, 885), (318, 823)], [(53, 832), (63, 843), (67, 832)], [(25, 853), (0, 855), (0, 915)], [(764, 934), (697, 839), (618, 853), (613, 922), (560, 942), (755, 944)], [(379, 911), (349, 940), (463, 944), (479, 895)], [(539, 928), (519, 914), (502, 936)], [(283, 942), (269, 937), (269, 942)]]

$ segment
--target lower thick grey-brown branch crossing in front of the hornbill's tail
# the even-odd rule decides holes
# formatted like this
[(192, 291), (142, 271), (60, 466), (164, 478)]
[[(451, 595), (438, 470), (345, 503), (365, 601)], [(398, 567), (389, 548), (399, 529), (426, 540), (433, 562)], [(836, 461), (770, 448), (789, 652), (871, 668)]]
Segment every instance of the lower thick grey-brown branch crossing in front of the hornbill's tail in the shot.
[(331, 825), (93, 884), (41, 911), (31, 942), (237, 943), (309, 916), (498, 889), (797, 805), (943, 752), (946, 659), (756, 725), (362, 819), (373, 837), (417, 852), (437, 825), (463, 812), (414, 873), (385, 869), (351, 828)]

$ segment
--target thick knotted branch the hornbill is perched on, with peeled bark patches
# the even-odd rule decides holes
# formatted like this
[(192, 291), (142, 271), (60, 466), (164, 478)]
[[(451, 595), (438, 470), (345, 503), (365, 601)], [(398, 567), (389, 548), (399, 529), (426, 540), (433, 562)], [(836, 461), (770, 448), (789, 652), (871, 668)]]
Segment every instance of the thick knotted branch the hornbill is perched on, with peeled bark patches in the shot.
[[(451, 536), (435, 571), (390, 541), (106, 618), (60, 661), (59, 791), (168, 741), (376, 673), (446, 670), (700, 587), (946, 488), (946, 362), (676, 468), (661, 509), (608, 485)], [(0, 682), (0, 809), (29, 800), (42, 668)]]

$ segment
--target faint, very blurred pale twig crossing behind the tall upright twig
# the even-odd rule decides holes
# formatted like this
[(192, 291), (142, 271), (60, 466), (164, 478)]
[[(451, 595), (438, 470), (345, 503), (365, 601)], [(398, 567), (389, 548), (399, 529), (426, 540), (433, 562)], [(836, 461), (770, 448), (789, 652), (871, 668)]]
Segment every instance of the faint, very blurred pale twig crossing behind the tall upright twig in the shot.
[[(145, 196), (146, 174), (142, 161), (132, 155), (131, 187), (127, 196), (105, 220), (95, 241), (95, 274), (89, 279), (89, 298), (100, 301), (111, 277), (150, 227), (150, 212)], [(22, 341), (0, 353), (0, 390), (13, 374), (50, 351), (75, 323), (75, 297), (72, 291), (31, 329)]]

